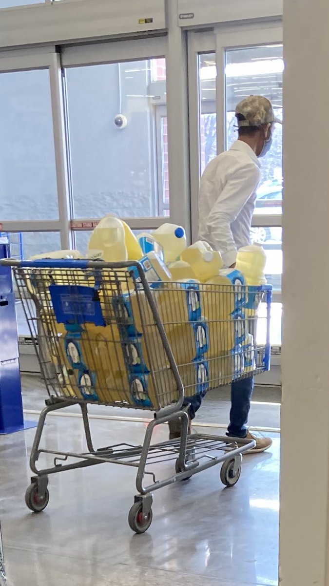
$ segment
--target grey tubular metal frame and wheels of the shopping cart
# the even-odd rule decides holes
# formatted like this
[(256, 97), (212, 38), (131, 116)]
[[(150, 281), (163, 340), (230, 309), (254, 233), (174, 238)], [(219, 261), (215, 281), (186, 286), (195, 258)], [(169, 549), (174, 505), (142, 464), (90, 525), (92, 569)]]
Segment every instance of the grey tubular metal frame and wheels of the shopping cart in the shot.
[[(163, 350), (166, 353), (169, 361), (170, 370), (173, 373), (174, 380), (177, 385), (178, 396), (176, 402), (160, 408), (154, 415), (154, 418), (148, 424), (145, 432), (145, 438), (142, 445), (133, 446), (128, 444), (118, 444), (101, 449), (94, 449), (92, 443), (90, 425), (88, 421), (88, 403), (101, 403), (101, 401), (86, 400), (79, 398), (67, 398), (52, 396), (46, 400), (46, 407), (43, 409), (39, 417), (37, 425), (35, 440), (33, 441), (32, 451), (30, 454), (30, 468), (35, 476), (32, 476), (31, 484), (26, 491), (25, 500), (26, 505), (33, 512), (42, 511), (49, 502), (49, 492), (47, 489), (48, 477), (53, 473), (73, 470), (76, 468), (85, 468), (87, 466), (94, 466), (109, 462), (111, 464), (120, 464), (132, 466), (137, 469), (136, 474), (136, 490), (135, 502), (131, 507), (128, 516), (128, 522), (131, 529), (136, 533), (144, 533), (152, 522), (152, 492), (164, 486), (170, 485), (177, 481), (185, 481), (194, 474), (205, 469), (211, 468), (217, 464), (222, 463), (221, 481), (226, 486), (234, 486), (241, 473), (242, 454), (255, 447), (255, 441), (248, 439), (241, 440), (241, 438), (221, 437), (208, 434), (193, 434), (188, 435), (189, 417), (186, 410), (183, 409), (184, 401), (184, 386), (181, 381), (179, 369), (175, 362), (172, 348), (167, 339), (166, 331), (159, 316), (155, 300), (152, 295), (149, 283), (146, 281), (145, 274), (139, 263), (131, 261), (129, 263), (111, 263), (105, 264), (99, 261), (26, 261), (18, 262), (13, 260), (4, 260), (4, 264), (10, 264), (15, 273), (16, 281), (18, 282), (19, 291), (22, 292), (22, 283), (26, 280), (26, 275), (30, 269), (34, 269), (42, 274), (42, 271), (53, 269), (64, 271), (121, 271), (129, 268), (129, 275), (131, 271), (135, 271), (138, 275), (138, 287), (142, 287), (145, 297), (147, 299), (150, 312), (153, 316), (157, 332), (159, 332), (162, 340)], [(136, 281), (135, 281), (136, 283)], [(266, 302), (268, 304), (267, 310), (267, 329), (266, 329), (266, 360), (267, 366), (263, 370), (269, 368), (269, 318), (270, 318), (270, 301), (272, 299), (272, 291), (270, 287), (258, 288), (262, 294), (266, 295)], [(35, 301), (37, 302), (37, 296)], [(26, 319), (28, 320), (32, 337), (32, 319), (28, 315), (28, 309), (25, 308)], [(34, 331), (35, 333), (35, 331)], [(40, 348), (40, 343), (36, 346), (36, 352), (39, 357), (40, 367), (47, 379), (49, 376), (49, 360), (43, 355), (43, 349)], [(260, 372), (260, 371), (259, 371)], [(249, 372), (248, 376), (252, 373)], [(49, 449), (40, 448), (42, 440), (43, 428), (46, 417), (53, 411), (61, 410), (73, 405), (79, 404), (83, 418), (85, 440), (87, 443), (87, 453), (77, 452), (61, 452)], [(111, 404), (111, 403), (107, 403)], [(112, 403), (113, 405), (113, 403)], [(129, 407), (128, 405), (119, 405)], [(131, 406), (133, 408), (143, 408), (138, 406)], [(160, 442), (152, 444), (152, 435), (157, 425), (169, 423), (173, 420), (180, 420), (181, 436), (180, 439)], [(238, 443), (239, 445), (238, 445)], [(52, 454), (54, 456), (54, 465), (49, 468), (39, 468), (37, 462), (42, 454)], [(73, 459), (73, 461), (71, 461)], [(160, 464), (165, 461), (173, 461), (175, 473), (167, 478), (157, 481), (155, 472), (149, 470), (149, 466)], [(145, 478), (150, 478), (150, 483), (145, 483)]]

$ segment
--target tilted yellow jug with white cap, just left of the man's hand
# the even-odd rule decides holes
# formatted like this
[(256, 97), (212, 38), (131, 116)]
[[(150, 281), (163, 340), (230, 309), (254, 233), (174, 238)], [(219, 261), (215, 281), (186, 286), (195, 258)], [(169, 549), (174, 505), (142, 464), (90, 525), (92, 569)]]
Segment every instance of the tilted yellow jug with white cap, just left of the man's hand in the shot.
[(207, 250), (201, 240), (185, 248), (180, 258), (189, 263), (196, 279), (201, 282), (208, 281), (213, 275), (217, 275), (223, 265), (221, 253)]

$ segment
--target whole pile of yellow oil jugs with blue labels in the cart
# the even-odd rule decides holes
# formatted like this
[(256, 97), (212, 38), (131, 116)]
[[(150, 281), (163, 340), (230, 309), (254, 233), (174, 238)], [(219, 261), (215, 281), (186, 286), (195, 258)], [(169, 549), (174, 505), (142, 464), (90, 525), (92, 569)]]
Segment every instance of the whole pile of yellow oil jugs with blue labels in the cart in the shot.
[[(39, 257), (63, 258), (63, 253), (82, 258), (77, 251)], [(123, 220), (108, 214), (91, 234), (87, 257), (107, 263), (138, 260), (142, 265), (186, 396), (205, 394), (255, 369), (255, 331), (250, 323), (259, 305), (256, 288), (266, 282), (261, 246), (241, 248), (236, 267), (223, 268), (221, 254), (207, 243), (187, 247), (181, 226), (165, 223), (136, 237)], [(100, 287), (100, 310), (112, 316), (103, 323), (59, 323), (56, 311), (50, 315), (49, 304), (44, 304), (45, 333), (52, 322), (61, 339), (53, 351), (49, 346), (48, 358), (56, 365), (64, 394), (155, 409), (177, 398), (155, 315), (138, 270), (133, 271), (131, 286), (125, 280), (111, 290)], [(79, 284), (94, 290), (97, 282), (92, 278), (91, 283), (81, 271)], [(52, 280), (69, 284), (60, 270), (57, 277), (52, 272)]]

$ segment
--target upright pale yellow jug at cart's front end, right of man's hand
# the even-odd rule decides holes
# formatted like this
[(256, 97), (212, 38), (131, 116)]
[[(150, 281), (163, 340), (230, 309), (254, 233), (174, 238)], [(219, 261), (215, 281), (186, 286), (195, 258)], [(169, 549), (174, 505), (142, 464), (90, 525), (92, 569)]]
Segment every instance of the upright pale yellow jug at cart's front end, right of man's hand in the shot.
[(266, 254), (261, 244), (250, 244), (238, 250), (235, 268), (242, 272), (247, 285), (265, 285)]

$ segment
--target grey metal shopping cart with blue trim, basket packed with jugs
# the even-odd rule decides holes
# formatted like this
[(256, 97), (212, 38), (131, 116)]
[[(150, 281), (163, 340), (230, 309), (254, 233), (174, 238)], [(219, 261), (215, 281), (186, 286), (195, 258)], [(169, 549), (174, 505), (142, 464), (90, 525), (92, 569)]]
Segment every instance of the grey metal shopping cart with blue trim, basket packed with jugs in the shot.
[[(150, 285), (135, 261), (2, 262), (13, 267), (19, 295), (28, 299), (26, 319), (38, 340), (35, 349), (49, 394), (30, 454), (35, 476), (26, 505), (31, 510), (47, 506), (50, 474), (103, 462), (137, 470), (138, 494), (128, 517), (136, 533), (152, 522), (156, 489), (220, 463), (224, 485), (237, 483), (242, 454), (255, 442), (188, 435), (183, 401), (269, 369), (270, 287)], [(40, 448), (47, 414), (75, 404), (81, 408), (88, 452)], [(88, 404), (155, 412), (143, 445), (94, 449)], [(180, 421), (180, 439), (152, 444), (156, 426), (174, 420)], [(53, 466), (37, 468), (42, 454), (54, 456)], [(168, 473), (163, 462), (173, 464), (174, 471)], [(164, 468), (166, 478), (159, 479)]]

